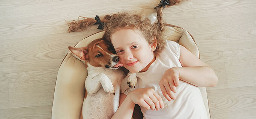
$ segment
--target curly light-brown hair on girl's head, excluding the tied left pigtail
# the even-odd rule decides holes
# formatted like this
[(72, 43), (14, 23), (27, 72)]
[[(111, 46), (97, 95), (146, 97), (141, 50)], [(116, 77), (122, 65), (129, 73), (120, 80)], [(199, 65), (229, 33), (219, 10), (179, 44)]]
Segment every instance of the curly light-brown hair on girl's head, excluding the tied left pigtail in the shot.
[(143, 15), (130, 14), (127, 12), (113, 14), (112, 17), (104, 24), (106, 29), (104, 39), (111, 42), (110, 37), (113, 33), (121, 28), (129, 28), (140, 31), (139, 33), (146, 39), (149, 44), (153, 43), (153, 38), (156, 37), (157, 46), (154, 51), (157, 55), (162, 51), (165, 40), (162, 39), (161, 29), (158, 22), (151, 24), (149, 18)]

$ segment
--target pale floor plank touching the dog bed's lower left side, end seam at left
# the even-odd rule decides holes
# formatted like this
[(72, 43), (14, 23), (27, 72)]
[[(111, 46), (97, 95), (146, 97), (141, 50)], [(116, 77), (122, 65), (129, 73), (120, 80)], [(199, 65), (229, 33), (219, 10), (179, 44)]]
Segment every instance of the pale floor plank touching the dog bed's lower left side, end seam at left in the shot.
[(58, 70), (9, 74), (9, 108), (51, 105)]

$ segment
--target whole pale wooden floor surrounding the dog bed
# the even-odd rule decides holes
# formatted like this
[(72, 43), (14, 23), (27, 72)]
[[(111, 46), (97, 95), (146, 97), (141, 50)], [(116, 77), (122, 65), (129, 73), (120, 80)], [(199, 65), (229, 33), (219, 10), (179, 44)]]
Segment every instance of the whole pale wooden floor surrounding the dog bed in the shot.
[[(1, 0), (0, 119), (49, 119), (58, 68), (89, 31), (66, 21), (109, 13), (149, 14), (160, 0)], [(212, 119), (256, 118), (256, 1), (191, 0), (164, 9), (164, 20), (189, 31), (218, 84), (207, 88)]]

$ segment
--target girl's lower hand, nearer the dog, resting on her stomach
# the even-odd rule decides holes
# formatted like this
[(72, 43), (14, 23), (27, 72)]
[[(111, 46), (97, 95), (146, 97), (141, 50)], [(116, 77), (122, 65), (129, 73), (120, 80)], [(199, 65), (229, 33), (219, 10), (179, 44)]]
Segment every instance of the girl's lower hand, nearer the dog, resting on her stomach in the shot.
[[(162, 102), (162, 98), (158, 95), (158, 93), (152, 88), (139, 88), (135, 89), (129, 93), (130, 100), (149, 110), (159, 110), (159, 108), (164, 108), (164, 103)], [(127, 96), (127, 97), (128, 97)]]

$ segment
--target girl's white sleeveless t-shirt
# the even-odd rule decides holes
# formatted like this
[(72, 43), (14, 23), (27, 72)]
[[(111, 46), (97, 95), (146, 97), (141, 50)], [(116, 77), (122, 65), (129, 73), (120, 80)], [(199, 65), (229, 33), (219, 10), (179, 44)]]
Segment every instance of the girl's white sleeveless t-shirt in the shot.
[[(207, 119), (204, 101), (197, 86), (179, 80), (179, 86), (176, 87), (175, 100), (168, 101), (162, 95), (159, 81), (169, 68), (182, 67), (179, 62), (179, 56), (179, 44), (166, 40), (163, 51), (156, 57), (156, 60), (148, 70), (136, 73), (137, 83), (135, 89), (153, 88), (164, 102), (164, 109), (158, 111), (141, 107), (144, 119)], [(128, 88), (124, 94), (128, 95), (135, 89)]]

